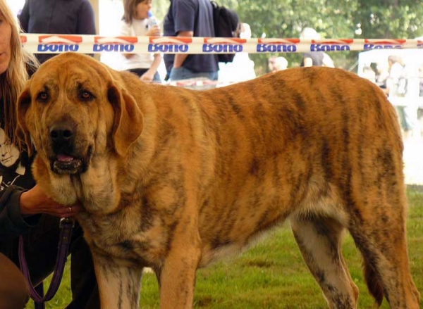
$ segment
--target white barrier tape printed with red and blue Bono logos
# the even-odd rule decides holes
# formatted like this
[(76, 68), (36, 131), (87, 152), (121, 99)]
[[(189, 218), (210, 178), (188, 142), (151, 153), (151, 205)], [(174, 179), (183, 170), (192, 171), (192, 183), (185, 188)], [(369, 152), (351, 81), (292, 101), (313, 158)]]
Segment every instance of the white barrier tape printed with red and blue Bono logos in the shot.
[(32, 53), (298, 53), (423, 49), (419, 39), (238, 39), (221, 37), (102, 37), (75, 34), (21, 34)]

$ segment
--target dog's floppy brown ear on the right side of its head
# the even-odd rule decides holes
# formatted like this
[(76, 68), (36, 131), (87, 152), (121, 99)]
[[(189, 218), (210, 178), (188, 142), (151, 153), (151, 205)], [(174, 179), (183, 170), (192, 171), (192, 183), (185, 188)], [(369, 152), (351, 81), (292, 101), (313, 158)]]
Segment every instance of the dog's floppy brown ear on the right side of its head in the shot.
[(119, 91), (114, 84), (111, 84), (107, 96), (115, 112), (112, 132), (114, 147), (119, 156), (125, 156), (129, 146), (142, 132), (144, 124), (142, 112), (134, 97), (125, 89)]

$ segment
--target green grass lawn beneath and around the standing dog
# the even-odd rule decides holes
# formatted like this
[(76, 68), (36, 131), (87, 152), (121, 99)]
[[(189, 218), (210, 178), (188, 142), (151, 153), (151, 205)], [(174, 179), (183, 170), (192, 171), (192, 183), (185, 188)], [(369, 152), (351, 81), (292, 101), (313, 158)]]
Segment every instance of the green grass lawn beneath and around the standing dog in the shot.
[[(417, 289), (423, 292), (423, 192), (407, 191), (410, 205), (407, 237), (411, 271)], [(359, 308), (374, 308), (364, 283), (361, 257), (350, 235), (345, 237), (343, 254), (351, 276), (360, 289)], [(422, 293), (423, 294), (423, 293)], [(47, 309), (64, 308), (71, 301), (69, 265), (61, 287)], [(327, 308), (319, 286), (302, 261), (288, 225), (243, 255), (197, 271), (195, 308)], [(159, 308), (154, 274), (142, 278), (140, 308)], [(423, 302), (421, 303), (423, 305)], [(32, 301), (27, 308), (33, 308)], [(384, 301), (381, 308), (389, 308)]]

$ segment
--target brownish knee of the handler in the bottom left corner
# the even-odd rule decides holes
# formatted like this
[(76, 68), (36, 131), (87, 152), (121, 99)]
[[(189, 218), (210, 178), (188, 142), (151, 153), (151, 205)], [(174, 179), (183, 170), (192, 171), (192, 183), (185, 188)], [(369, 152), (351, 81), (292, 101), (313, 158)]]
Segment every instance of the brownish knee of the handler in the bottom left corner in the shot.
[(30, 291), (19, 268), (0, 253), (0, 309), (25, 308)]

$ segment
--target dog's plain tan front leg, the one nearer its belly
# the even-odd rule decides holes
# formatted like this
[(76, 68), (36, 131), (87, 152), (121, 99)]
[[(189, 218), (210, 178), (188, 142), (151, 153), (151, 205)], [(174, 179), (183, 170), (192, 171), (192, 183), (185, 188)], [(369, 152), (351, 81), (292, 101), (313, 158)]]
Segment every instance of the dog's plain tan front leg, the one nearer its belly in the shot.
[(161, 309), (189, 309), (194, 299), (195, 272), (200, 261), (200, 248), (187, 248), (186, 243), (173, 249), (157, 273)]

